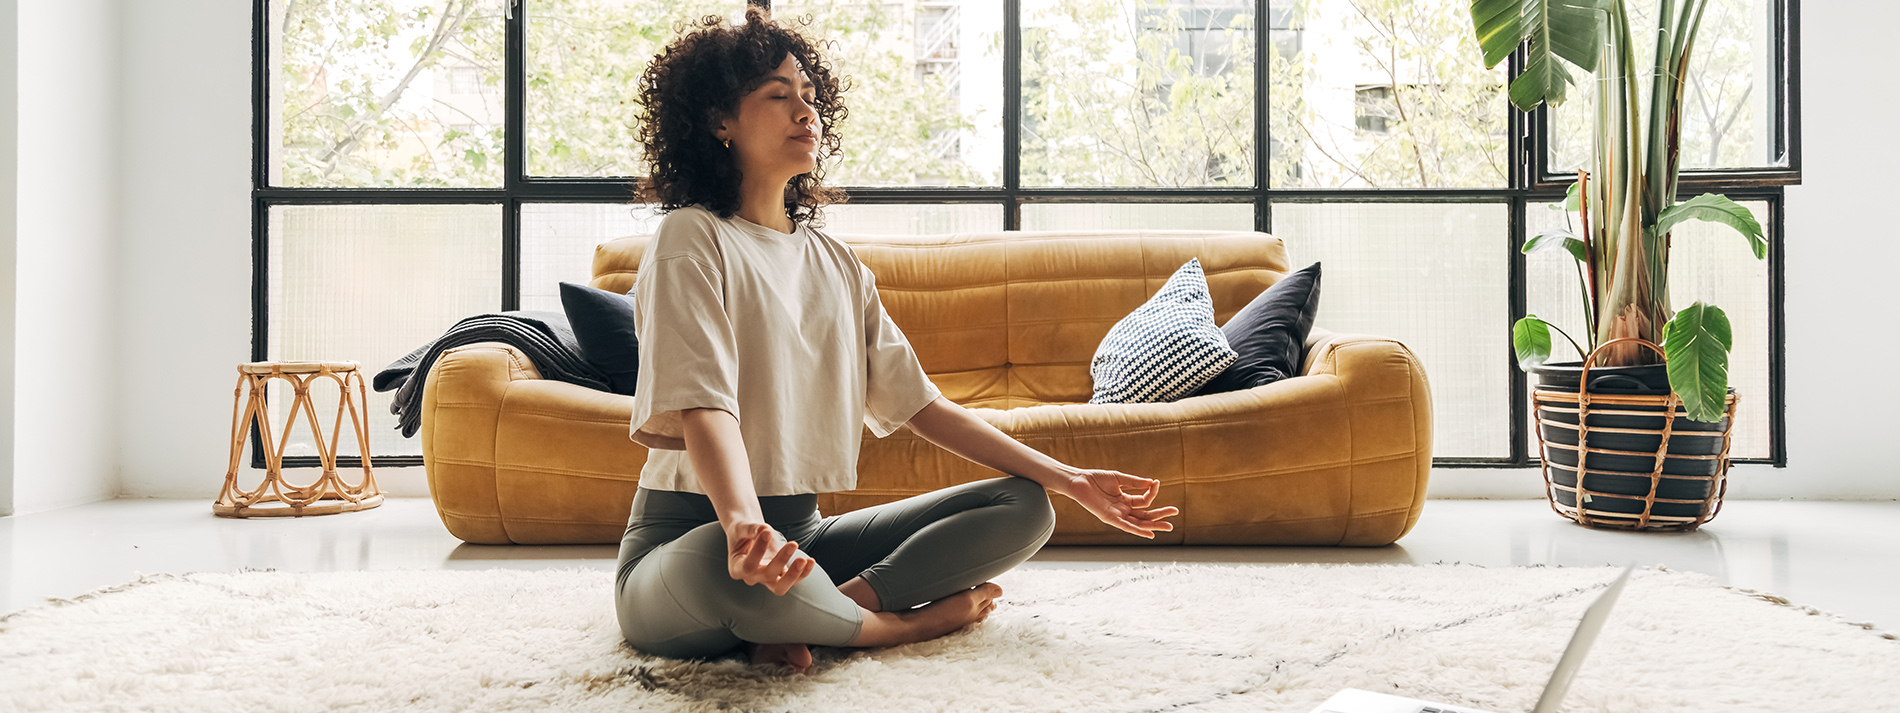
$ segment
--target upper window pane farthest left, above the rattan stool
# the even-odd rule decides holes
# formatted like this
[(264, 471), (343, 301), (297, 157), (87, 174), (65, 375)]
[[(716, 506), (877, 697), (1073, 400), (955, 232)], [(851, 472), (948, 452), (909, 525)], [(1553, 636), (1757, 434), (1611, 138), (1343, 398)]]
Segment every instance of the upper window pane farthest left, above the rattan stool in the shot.
[(502, 6), (272, 0), (272, 186), (500, 186)]

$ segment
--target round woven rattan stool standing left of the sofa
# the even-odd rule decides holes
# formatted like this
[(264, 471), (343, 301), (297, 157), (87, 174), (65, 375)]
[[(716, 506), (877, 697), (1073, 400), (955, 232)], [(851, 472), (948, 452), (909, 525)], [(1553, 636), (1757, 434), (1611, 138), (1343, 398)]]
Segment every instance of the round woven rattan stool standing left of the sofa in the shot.
[[(264, 390), (272, 378), (283, 378), (296, 390), (291, 401), (291, 416), (283, 424), (283, 435), (272, 443), (270, 409), (264, 407)], [(310, 384), (317, 378), (336, 382), (338, 403), (336, 422), (331, 426), (329, 443), (323, 441), (323, 424), (317, 422), (317, 407), (310, 401)], [(352, 397), (350, 382), (355, 382)], [(251, 397), (243, 399), (249, 384)], [(243, 401), (239, 414), (238, 401)], [(357, 409), (357, 401), (363, 403)], [(348, 485), (336, 475), (336, 441), (342, 435), (344, 411), (350, 411), (350, 424), (355, 428), (357, 451), (363, 454), (363, 479)], [(317, 439), (317, 454), (323, 462), (323, 475), (315, 483), (296, 487), (283, 479), (283, 447), (291, 441), (291, 426), (296, 414), (310, 418), (310, 430)], [(243, 456), (243, 441), (251, 432), (253, 418), (258, 426), (264, 447), (264, 481), (253, 491), (238, 489), (238, 466)], [(376, 475), (369, 468), (369, 388), (355, 361), (251, 361), (238, 365), (238, 390), (232, 392), (232, 464), (224, 473), (224, 492), (211, 504), (211, 511), (220, 517), (302, 517), (334, 515), (352, 510), (370, 510), (382, 504), (382, 491), (376, 489)], [(266, 492), (268, 491), (268, 492)], [(270, 506), (276, 504), (276, 506)]]

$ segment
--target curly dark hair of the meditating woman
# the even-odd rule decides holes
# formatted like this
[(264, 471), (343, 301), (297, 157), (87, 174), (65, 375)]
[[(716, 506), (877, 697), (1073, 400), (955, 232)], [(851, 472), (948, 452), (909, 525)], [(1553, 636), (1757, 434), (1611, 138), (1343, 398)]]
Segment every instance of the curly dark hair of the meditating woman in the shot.
[[(809, 27), (806, 17), (802, 27)], [(813, 108), (825, 125), (817, 165), (785, 186), (792, 221), (823, 224), (819, 211), (847, 200), (842, 188), (821, 186), (825, 160), (838, 154), (838, 124), (846, 118), (842, 87), (811, 40), (771, 21), (760, 6), (745, 8), (743, 27), (724, 27), (720, 15), (680, 23), (673, 40), (640, 74), (638, 137), (652, 165), (635, 196), (659, 203), (661, 213), (705, 203), (724, 219), (739, 209), (739, 165), (714, 135), (718, 118), (737, 114), (739, 99), (766, 84), (790, 53), (811, 78)]]

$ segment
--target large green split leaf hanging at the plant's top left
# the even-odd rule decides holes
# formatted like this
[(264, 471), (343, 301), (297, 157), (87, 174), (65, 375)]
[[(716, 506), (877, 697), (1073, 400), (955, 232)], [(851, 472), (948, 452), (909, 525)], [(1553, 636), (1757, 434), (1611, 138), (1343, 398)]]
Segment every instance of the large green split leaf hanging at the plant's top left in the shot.
[(1606, 8), (1607, 0), (1471, 0), (1471, 25), (1484, 68), (1530, 42), (1524, 74), (1510, 82), (1510, 103), (1528, 112), (1539, 103), (1564, 103), (1571, 78), (1558, 59), (1596, 72)]

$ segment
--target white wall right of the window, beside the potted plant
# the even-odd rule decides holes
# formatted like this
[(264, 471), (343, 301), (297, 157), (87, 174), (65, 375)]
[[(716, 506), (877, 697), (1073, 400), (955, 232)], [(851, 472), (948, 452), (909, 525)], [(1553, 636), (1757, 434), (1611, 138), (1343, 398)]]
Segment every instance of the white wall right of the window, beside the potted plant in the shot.
[[(1868, 91), (1854, 67), (1890, 57), (1900, 6), (1801, 4), (1801, 186), (1788, 188), (1788, 460), (1786, 477), (1750, 477), (1742, 496), (1900, 498), (1890, 363), (1892, 188), (1879, 177), (1900, 145), (1879, 137), (1896, 101)], [(1879, 120), (1877, 116), (1887, 116)], [(1794, 464), (1799, 462), (1799, 468)], [(1737, 491), (1731, 491), (1737, 492)]]

